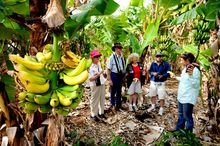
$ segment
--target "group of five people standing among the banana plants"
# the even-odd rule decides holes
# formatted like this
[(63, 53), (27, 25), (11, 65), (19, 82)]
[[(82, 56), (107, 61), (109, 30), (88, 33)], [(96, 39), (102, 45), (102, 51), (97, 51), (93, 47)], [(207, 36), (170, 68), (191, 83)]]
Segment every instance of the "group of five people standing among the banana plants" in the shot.
[[(122, 45), (115, 43), (112, 47), (113, 53), (107, 62), (107, 80), (110, 85), (110, 103), (111, 109), (118, 111), (124, 110), (122, 106), (122, 85), (126, 78), (127, 94), (129, 95), (129, 111), (137, 111), (143, 104), (142, 86), (145, 83), (144, 65), (139, 62), (137, 53), (128, 56), (128, 63), (122, 55)], [(106, 119), (104, 113), (105, 105), (105, 78), (101, 68), (99, 58), (101, 53), (93, 50), (90, 53), (92, 65), (89, 68), (89, 83), (91, 87), (90, 109), (91, 119), (99, 121), (100, 118)], [(158, 114), (164, 114), (164, 104), (166, 97), (165, 81), (171, 77), (179, 81), (178, 88), (178, 121), (176, 130), (186, 128), (193, 130), (193, 107), (199, 96), (200, 88), (200, 70), (195, 63), (195, 57), (192, 53), (181, 55), (181, 63), (184, 66), (181, 75), (175, 76), (168, 62), (162, 60), (163, 54), (157, 53), (156, 59), (150, 65), (148, 70), (150, 75), (149, 96), (151, 97), (151, 106), (147, 112), (156, 109), (157, 99), (159, 99), (160, 109)]]

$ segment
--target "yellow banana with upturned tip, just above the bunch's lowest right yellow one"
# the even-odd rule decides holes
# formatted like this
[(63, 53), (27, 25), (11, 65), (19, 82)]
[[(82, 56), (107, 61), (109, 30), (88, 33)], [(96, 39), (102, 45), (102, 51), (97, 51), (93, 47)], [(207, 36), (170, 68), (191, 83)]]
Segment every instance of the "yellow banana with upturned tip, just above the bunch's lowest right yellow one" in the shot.
[(77, 76), (85, 69), (86, 69), (86, 59), (83, 58), (75, 69), (65, 70), (64, 73), (66, 73), (68, 76)]

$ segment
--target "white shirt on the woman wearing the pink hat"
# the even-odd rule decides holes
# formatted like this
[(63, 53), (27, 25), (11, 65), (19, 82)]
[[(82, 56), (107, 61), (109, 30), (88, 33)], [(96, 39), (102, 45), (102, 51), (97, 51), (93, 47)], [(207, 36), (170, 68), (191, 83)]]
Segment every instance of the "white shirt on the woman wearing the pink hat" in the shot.
[[(89, 79), (92, 78), (93, 76), (95, 76), (95, 74), (97, 74), (98, 72), (101, 72), (102, 71), (102, 68), (101, 68), (101, 65), (100, 63), (98, 64), (94, 64), (92, 63), (92, 65), (90, 66), (89, 68)], [(101, 82), (101, 85), (105, 84), (105, 78), (103, 76), (103, 74), (100, 75), (100, 82)], [(96, 83), (95, 81), (90, 81), (89, 80), (89, 86), (95, 86)]]

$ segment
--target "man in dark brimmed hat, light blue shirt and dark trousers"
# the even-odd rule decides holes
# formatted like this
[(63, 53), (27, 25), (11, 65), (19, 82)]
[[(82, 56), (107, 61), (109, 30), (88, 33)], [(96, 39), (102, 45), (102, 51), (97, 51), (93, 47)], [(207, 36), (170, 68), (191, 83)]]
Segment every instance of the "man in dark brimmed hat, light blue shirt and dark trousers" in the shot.
[(111, 108), (115, 110), (124, 109), (121, 101), (121, 89), (125, 77), (125, 59), (122, 55), (122, 45), (115, 43), (107, 63), (107, 79), (110, 84), (110, 102)]

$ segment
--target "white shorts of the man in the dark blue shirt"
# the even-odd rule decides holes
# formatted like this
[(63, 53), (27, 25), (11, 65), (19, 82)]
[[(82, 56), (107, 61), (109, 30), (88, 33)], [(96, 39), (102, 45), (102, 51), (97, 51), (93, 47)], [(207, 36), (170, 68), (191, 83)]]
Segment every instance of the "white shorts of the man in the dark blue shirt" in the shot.
[(150, 90), (149, 90), (149, 96), (157, 96), (159, 99), (164, 99), (166, 97), (166, 88), (165, 88), (165, 82), (150, 82)]

